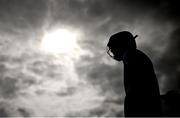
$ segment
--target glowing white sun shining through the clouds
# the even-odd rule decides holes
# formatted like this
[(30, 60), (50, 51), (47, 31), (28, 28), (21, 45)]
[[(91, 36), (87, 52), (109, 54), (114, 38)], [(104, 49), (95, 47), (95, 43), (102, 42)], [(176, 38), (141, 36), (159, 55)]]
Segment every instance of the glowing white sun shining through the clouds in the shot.
[(76, 34), (66, 29), (47, 32), (43, 36), (41, 48), (45, 52), (62, 54), (69, 53), (76, 48)]

